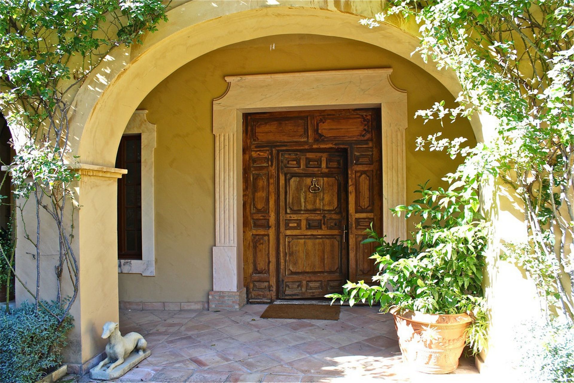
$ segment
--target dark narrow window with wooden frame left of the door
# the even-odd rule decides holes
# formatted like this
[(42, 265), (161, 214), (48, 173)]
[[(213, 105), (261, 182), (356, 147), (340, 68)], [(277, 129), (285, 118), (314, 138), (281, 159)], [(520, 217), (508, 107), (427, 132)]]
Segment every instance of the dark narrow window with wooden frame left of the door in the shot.
[(130, 134), (120, 141), (115, 166), (127, 169), (118, 180), (118, 259), (142, 259), (142, 140)]

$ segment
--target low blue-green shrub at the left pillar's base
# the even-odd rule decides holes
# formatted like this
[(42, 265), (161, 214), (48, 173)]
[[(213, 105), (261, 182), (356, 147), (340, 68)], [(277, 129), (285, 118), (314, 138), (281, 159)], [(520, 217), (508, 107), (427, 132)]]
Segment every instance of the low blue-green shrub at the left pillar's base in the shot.
[(53, 314), (61, 316), (62, 306), (43, 305), (36, 312), (33, 304), (24, 303), (0, 316), (1, 382), (35, 382), (61, 363), (60, 351), (73, 318), (65, 316), (60, 323)]

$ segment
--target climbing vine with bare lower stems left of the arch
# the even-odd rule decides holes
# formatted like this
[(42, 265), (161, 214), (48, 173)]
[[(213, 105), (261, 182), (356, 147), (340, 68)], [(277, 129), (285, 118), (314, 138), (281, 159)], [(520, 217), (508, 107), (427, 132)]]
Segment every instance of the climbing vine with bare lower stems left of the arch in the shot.
[[(36, 286), (27, 287), (42, 303), (40, 274), (46, 255), (44, 227), (56, 227), (56, 301), (51, 311), (62, 322), (74, 303), (79, 283), (73, 242), (73, 214), (79, 208), (72, 184), (79, 179), (77, 158), (69, 149), (71, 101), (82, 83), (110, 51), (141, 43), (166, 21), (161, 0), (2, 0), (0, 2), (0, 109), (13, 133), (15, 156), (9, 175), (22, 225), (20, 239), (32, 244), (25, 256), (36, 260)], [(34, 222), (24, 221), (24, 210)], [(13, 251), (13, 250), (12, 250)], [(14, 273), (14, 254), (0, 248)], [(9, 276), (10, 277), (10, 276)], [(18, 281), (20, 278), (15, 276)], [(71, 288), (68, 288), (71, 287)], [(69, 293), (69, 297), (64, 296)], [(6, 310), (8, 310), (6, 305)]]

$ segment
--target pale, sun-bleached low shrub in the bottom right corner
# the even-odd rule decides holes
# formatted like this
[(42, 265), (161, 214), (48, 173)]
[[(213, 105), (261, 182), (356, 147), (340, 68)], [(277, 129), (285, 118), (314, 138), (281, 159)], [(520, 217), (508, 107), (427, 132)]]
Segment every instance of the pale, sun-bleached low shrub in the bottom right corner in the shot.
[(559, 320), (526, 323), (516, 333), (523, 381), (574, 381), (574, 325)]

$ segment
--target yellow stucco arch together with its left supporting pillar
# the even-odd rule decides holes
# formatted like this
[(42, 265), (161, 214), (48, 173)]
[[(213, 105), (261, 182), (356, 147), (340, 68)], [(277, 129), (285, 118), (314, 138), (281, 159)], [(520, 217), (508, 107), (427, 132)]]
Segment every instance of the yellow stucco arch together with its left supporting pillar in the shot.
[[(115, 49), (83, 84), (73, 101), (70, 134), (73, 154), (79, 156), (83, 164), (113, 167), (118, 144), (129, 119), (157, 84), (205, 53), (258, 37), (316, 34), (366, 42), (412, 61), (438, 79), (452, 94), (459, 91), (452, 72), (439, 72), (433, 64), (425, 64), (417, 56), (410, 56), (418, 45), (418, 38), (395, 26), (383, 25), (369, 30), (358, 24), (358, 14), (333, 7), (328, 9), (328, 5), (317, 5), (313, 1), (300, 2), (294, 7), (262, 7), (263, 3), (250, 2), (247, 8), (255, 8), (247, 10), (239, 7), (239, 2), (223, 1), (218, 3), (218, 7), (210, 2), (185, 3), (168, 13), (169, 21), (161, 25), (158, 32), (145, 36), (144, 45)], [(478, 122), (473, 124), (480, 140)], [(113, 177), (121, 176), (118, 169), (102, 169), (102, 172)], [(83, 177), (85, 181), (79, 187), (84, 207), (79, 213), (82, 229), (77, 235), (78, 246), (84, 262), (83, 272), (87, 273), (85, 265), (94, 262), (108, 277), (103, 286), (102, 278), (86, 274), (82, 290), (86, 296), (91, 296), (90, 292), (94, 291), (92, 284), (97, 284), (102, 290), (101, 296), (109, 299), (105, 310), (86, 310), (80, 318), (82, 332), (77, 336), (83, 348), (77, 358), (77, 363), (82, 366), (80, 370), (94, 363), (97, 358), (90, 359), (101, 346), (88, 334), (101, 327), (100, 318), (117, 317), (117, 274), (113, 276), (117, 262), (115, 179), (104, 180), (101, 175), (92, 179)], [(102, 233), (95, 232), (94, 227), (101, 227)], [(101, 238), (106, 238), (107, 242), (102, 244)], [(99, 301), (88, 298), (77, 303), (78, 306), (80, 304), (87, 309), (101, 305)]]

